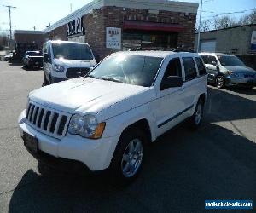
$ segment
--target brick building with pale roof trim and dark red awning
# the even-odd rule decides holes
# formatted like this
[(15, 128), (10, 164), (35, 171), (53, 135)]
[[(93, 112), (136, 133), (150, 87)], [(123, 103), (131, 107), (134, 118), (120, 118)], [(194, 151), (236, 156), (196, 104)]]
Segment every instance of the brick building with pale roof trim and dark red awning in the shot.
[(197, 8), (168, 0), (94, 0), (44, 32), (49, 39), (89, 43), (101, 59), (131, 48), (194, 49)]

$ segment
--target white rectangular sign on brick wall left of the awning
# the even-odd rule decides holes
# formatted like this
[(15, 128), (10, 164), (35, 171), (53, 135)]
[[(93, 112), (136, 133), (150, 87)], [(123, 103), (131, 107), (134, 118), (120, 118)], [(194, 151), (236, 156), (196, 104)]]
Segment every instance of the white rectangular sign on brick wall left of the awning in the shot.
[(106, 28), (106, 48), (121, 49), (121, 28)]

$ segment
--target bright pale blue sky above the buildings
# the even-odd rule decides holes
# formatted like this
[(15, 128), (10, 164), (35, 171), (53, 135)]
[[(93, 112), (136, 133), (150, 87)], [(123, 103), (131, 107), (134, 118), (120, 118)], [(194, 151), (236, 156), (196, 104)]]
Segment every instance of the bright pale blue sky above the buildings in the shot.
[[(9, 12), (2, 5), (16, 7), (11, 10), (14, 30), (33, 30), (34, 26), (36, 30), (44, 30), (49, 22), (54, 24), (70, 14), (71, 3), (75, 11), (90, 2), (91, 0), (0, 0), (0, 32), (9, 29)], [(201, 0), (178, 2), (200, 3)], [(233, 18), (239, 19), (242, 14), (251, 12), (253, 8), (256, 8), (256, 0), (203, 0), (202, 20), (224, 13), (231, 13)]]

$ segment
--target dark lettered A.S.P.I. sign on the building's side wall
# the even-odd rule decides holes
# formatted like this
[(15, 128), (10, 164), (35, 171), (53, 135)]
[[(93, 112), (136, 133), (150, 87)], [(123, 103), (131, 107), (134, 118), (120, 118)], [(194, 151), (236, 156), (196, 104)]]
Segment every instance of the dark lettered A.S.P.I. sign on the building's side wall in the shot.
[(83, 16), (67, 23), (67, 37), (84, 35)]

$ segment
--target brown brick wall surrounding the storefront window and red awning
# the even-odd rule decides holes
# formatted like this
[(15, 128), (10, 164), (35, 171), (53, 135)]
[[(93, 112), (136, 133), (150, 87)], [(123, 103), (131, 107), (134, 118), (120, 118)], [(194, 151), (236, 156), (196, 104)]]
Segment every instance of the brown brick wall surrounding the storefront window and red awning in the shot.
[(184, 32), (178, 33), (177, 45), (185, 45), (187, 49), (194, 49), (196, 14), (159, 11), (150, 14), (148, 9), (125, 9), (118, 7), (103, 7), (92, 14), (85, 15), (85, 40), (90, 44), (96, 55), (101, 58), (120, 49), (106, 49), (106, 27), (122, 28), (124, 20), (143, 20), (180, 24)]

